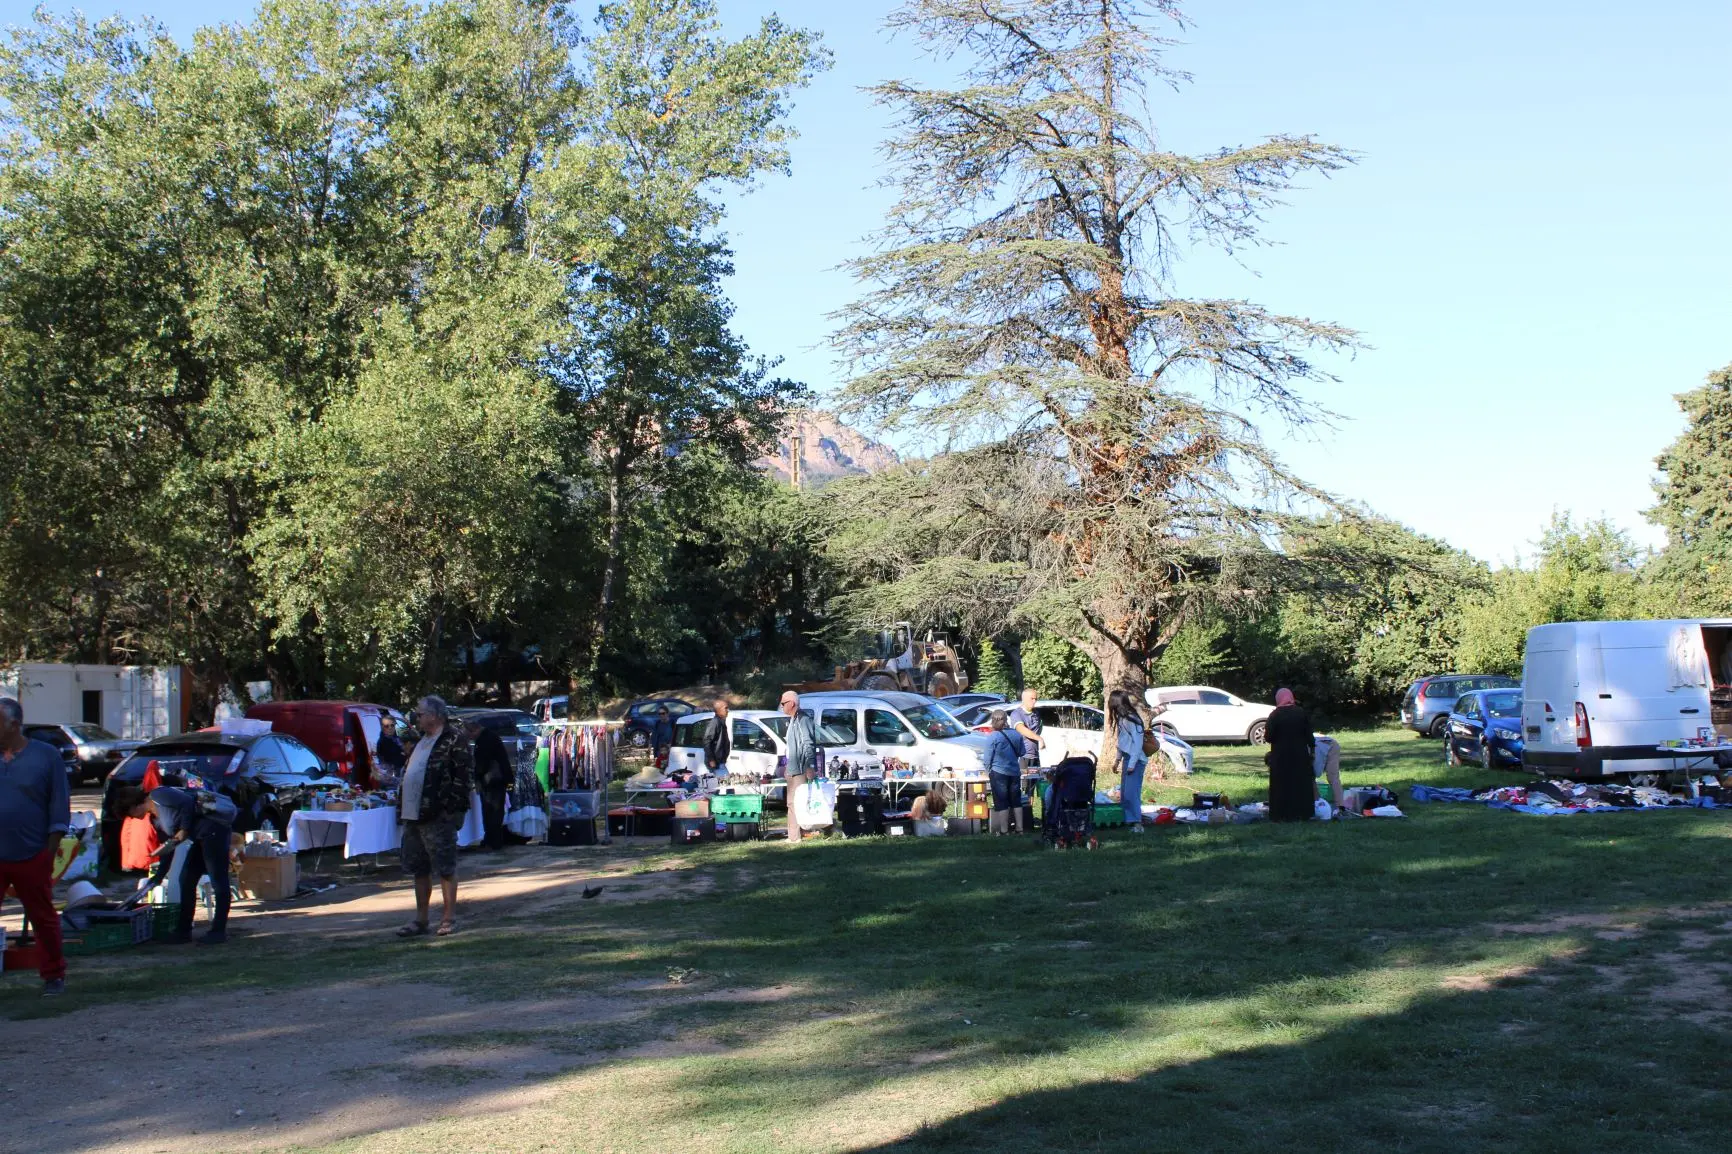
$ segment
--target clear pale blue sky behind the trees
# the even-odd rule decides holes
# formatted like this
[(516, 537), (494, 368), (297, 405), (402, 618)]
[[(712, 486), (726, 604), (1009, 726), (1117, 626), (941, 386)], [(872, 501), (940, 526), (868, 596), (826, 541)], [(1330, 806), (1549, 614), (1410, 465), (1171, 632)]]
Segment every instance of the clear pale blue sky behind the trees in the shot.
[[(835, 68), (797, 97), (793, 173), (733, 198), (736, 327), (783, 373), (837, 381), (828, 314), (856, 291), (889, 192), (885, 114), (861, 88), (942, 68), (880, 31), (890, 3), (721, 0), (824, 33)], [(71, 3), (50, 3), (66, 10)], [(81, 3), (178, 36), (242, 3)], [(582, 5), (577, 5), (582, 9)], [(0, 19), (29, 5), (0, 0)], [(1732, 43), (1727, 0), (1193, 0), (1160, 95), (1169, 147), (1315, 133), (1360, 163), (1296, 192), (1247, 265), (1199, 262), (1186, 295), (1245, 296), (1358, 329), (1311, 397), (1330, 430), (1266, 430), (1308, 480), (1488, 561), (1554, 509), (1644, 544), (1673, 393), (1732, 362)]]

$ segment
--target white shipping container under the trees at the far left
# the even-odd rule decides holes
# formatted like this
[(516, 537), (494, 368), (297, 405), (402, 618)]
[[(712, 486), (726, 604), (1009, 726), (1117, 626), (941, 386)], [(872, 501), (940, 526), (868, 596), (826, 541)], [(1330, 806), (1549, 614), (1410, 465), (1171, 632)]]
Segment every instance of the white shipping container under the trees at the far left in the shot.
[(182, 729), (178, 665), (21, 662), (0, 669), (0, 697), (28, 723), (92, 723), (130, 742)]

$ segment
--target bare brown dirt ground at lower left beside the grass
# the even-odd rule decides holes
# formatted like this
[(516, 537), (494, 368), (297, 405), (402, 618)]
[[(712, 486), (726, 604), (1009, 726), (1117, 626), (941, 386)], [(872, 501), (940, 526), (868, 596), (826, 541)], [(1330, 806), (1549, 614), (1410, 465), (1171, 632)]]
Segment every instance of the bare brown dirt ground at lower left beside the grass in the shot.
[[(464, 932), (544, 917), (585, 901), (582, 892), (594, 885), (603, 891), (592, 901), (606, 903), (698, 896), (715, 885), (691, 866), (630, 870), (632, 861), (618, 851), (469, 854), (459, 898)], [(291, 903), (237, 903), (234, 944), (281, 944), (307, 934), (385, 944), (412, 910), (407, 878), (386, 866)], [(440, 944), (430, 941), (428, 948)], [(137, 960), (173, 963), (168, 948), (147, 948)], [(76, 965), (71, 981), (78, 979)], [(435, 1116), (518, 1111), (553, 1095), (549, 1079), (563, 1071), (703, 1045), (632, 1028), (672, 1000), (700, 996), (717, 995), (629, 988), (559, 1000), (473, 1002), (440, 986), (359, 977), (7, 1022), (0, 1151), (267, 1151)], [(165, 1036), (191, 1041), (170, 1047)]]

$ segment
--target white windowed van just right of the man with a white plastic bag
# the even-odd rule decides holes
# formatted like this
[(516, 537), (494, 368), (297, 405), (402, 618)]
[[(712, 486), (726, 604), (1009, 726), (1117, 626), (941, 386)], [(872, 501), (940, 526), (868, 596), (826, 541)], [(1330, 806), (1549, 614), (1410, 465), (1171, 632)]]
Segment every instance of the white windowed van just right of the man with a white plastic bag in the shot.
[(914, 769), (984, 769), (986, 742), (921, 693), (802, 693), (821, 749), (861, 749)]

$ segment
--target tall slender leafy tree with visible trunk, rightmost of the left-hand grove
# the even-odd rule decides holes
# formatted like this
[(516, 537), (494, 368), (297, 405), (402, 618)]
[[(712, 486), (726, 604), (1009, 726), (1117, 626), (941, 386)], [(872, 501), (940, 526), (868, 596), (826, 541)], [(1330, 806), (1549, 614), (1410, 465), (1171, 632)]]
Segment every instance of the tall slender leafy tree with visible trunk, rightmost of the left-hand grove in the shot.
[(816, 36), (769, 17), (736, 42), (708, 0), (625, 0), (585, 45), (584, 156), (592, 255), (572, 279), (577, 340), (556, 379), (575, 418), (573, 471), (598, 477), (604, 563), (589, 676), (618, 660), (632, 509), (670, 483), (681, 445), (745, 468), (800, 386), (772, 379), (727, 329), (727, 250), (714, 199), (786, 170), (786, 97), (824, 66)]

